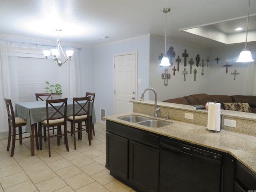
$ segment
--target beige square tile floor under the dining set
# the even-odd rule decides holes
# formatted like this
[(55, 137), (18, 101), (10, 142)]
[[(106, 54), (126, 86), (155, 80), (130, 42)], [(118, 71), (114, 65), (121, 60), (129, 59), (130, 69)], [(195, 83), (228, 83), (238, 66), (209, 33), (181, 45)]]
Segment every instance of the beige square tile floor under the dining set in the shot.
[(22, 145), (17, 140), (14, 156), (10, 157), (7, 138), (1, 138), (0, 192), (135, 192), (105, 168), (106, 125), (97, 122), (94, 129), (92, 146), (83, 132), (82, 140), (76, 140), (76, 150), (69, 134), (69, 152), (63, 137), (60, 146), (52, 138), (50, 158), (47, 142), (43, 142), (43, 150), (35, 150), (35, 156), (30, 156), (29, 138), (22, 140)]

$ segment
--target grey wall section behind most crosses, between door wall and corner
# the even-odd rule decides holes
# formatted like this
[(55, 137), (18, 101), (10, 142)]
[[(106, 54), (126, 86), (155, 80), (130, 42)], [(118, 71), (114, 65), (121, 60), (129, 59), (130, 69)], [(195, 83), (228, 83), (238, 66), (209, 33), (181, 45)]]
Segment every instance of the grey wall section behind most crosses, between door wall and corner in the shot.
[[(164, 54), (164, 39), (160, 38), (150, 38), (150, 79), (149, 85), (154, 88), (157, 92), (157, 100), (163, 101), (170, 98), (183, 97), (190, 94), (197, 93), (208, 93), (209, 92), (209, 77), (210, 77), (210, 50), (204, 50), (192, 46), (187, 46), (184, 44), (179, 44), (177, 42), (166, 42), (166, 52), (172, 46), (174, 48), (176, 56), (172, 58), (173, 66), (168, 67), (160, 67), (160, 60), (158, 56), (162, 53)], [(187, 58), (187, 66), (184, 67), (184, 57), (182, 57), (182, 53), (184, 50), (187, 50), (188, 58)], [(206, 67), (204, 68), (204, 75), (202, 75), (202, 67), (196, 67), (196, 55), (200, 55), (200, 63), (204, 59), (204, 64)], [(177, 69), (178, 63), (176, 59), (180, 56), (180, 70), (176, 70), (175, 76), (173, 75), (173, 68)], [(207, 67), (207, 58), (211, 60), (209, 62), (209, 67)], [(193, 58), (194, 65), (192, 66), (192, 74), (190, 74), (190, 64), (188, 61), (190, 58)], [(164, 79), (161, 78), (162, 73), (164, 73), (165, 69), (168, 69), (168, 73), (171, 74), (171, 78), (168, 79), (168, 85), (164, 85)], [(188, 71), (186, 75), (186, 81), (184, 81), (184, 75), (182, 71), (184, 68)], [(196, 81), (194, 81), (194, 69), (196, 68)], [(154, 94), (150, 93), (150, 100), (154, 100)]]

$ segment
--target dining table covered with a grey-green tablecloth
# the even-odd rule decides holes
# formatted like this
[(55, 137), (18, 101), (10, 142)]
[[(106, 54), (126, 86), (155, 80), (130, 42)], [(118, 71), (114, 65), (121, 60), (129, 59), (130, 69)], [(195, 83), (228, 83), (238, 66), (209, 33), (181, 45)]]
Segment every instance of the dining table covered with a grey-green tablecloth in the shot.
[[(75, 105), (76, 108), (76, 105)], [(31, 156), (34, 156), (34, 137), (35, 127), (38, 122), (46, 120), (46, 101), (20, 102), (15, 104), (15, 117), (23, 118), (27, 121), (26, 132), (30, 133)], [(68, 98), (67, 116), (73, 115), (73, 99)], [(94, 110), (94, 102), (90, 102), (90, 125), (96, 123), (96, 115)], [(92, 136), (92, 129), (91, 129)], [(92, 137), (91, 137), (92, 138)]]

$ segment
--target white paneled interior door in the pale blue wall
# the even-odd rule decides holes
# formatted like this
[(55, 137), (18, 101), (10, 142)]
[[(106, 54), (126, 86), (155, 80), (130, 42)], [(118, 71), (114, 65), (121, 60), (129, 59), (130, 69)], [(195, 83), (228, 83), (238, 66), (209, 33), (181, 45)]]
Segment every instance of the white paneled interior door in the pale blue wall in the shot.
[(115, 56), (115, 114), (133, 111), (130, 100), (137, 99), (137, 55)]

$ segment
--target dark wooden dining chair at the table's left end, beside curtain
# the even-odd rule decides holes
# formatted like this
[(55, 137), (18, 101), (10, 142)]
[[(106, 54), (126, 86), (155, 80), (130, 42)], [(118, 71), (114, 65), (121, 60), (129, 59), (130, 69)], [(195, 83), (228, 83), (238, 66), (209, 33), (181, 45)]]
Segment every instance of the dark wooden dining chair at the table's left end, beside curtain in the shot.
[[(14, 148), (15, 148), (15, 141), (20, 140), (20, 145), (22, 144), (22, 139), (29, 138), (29, 136), (22, 137), (22, 134), (27, 132), (22, 132), (22, 126), (25, 126), (27, 124), (26, 120), (15, 117), (14, 111), (12, 107), (12, 100), (4, 98), (5, 106), (7, 109), (8, 114), (8, 144), (7, 144), (7, 151), (10, 149), (10, 143), (12, 140), (12, 149), (11, 149), (11, 157), (14, 155)], [(16, 128), (18, 127), (18, 134), (16, 134)], [(19, 135), (19, 138), (16, 138), (16, 135)]]

